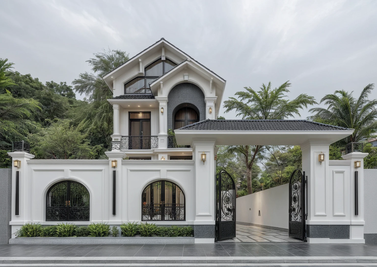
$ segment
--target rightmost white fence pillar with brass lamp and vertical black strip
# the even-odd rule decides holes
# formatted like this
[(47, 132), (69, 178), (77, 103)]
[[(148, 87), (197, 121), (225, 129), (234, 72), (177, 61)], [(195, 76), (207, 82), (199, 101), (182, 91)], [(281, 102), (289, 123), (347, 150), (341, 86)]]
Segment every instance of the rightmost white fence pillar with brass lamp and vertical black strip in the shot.
[[(349, 229), (349, 238), (354, 240), (364, 240), (364, 158), (368, 156), (368, 153), (352, 152), (343, 155), (342, 158), (351, 161), (350, 171), (350, 188), (351, 188), (351, 222)], [(355, 161), (361, 162), (361, 167), (355, 168)], [(358, 173), (358, 193), (359, 193), (359, 215), (355, 215), (355, 171)]]

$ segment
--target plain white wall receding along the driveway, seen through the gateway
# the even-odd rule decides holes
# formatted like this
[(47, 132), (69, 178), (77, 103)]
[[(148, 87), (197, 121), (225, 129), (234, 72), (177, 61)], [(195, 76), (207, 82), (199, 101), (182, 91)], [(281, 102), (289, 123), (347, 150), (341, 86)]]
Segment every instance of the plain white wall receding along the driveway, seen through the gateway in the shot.
[(237, 222), (288, 229), (288, 185), (237, 198)]

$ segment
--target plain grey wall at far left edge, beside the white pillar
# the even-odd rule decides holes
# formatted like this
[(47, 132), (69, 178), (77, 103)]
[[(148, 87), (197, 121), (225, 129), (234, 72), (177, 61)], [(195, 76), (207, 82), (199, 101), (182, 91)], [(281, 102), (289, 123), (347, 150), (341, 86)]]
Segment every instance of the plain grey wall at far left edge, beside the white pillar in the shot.
[(0, 169), (0, 244), (12, 237), (12, 169)]

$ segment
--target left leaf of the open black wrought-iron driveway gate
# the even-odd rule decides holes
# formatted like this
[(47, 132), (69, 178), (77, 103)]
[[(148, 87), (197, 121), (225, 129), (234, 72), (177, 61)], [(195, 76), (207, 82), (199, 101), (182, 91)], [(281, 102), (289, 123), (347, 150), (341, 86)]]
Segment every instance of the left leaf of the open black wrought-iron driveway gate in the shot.
[(216, 241), (236, 237), (236, 184), (225, 170), (216, 175)]

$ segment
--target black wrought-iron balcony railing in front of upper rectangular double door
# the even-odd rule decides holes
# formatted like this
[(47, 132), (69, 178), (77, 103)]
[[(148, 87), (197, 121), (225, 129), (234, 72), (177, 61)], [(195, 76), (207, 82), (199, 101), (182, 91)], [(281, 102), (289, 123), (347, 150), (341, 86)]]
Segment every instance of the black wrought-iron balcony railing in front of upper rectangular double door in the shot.
[(122, 136), (120, 142), (113, 141), (112, 149), (152, 149), (158, 147), (157, 136)]

